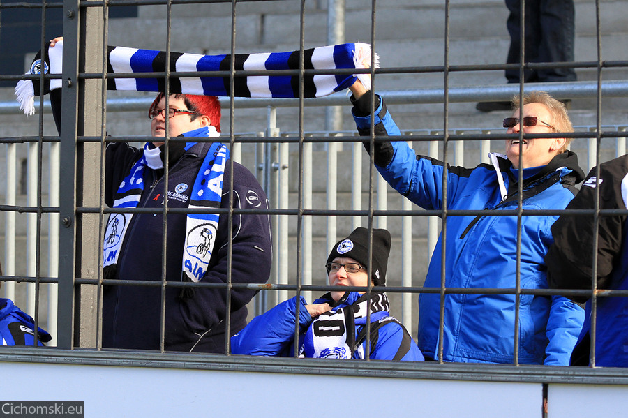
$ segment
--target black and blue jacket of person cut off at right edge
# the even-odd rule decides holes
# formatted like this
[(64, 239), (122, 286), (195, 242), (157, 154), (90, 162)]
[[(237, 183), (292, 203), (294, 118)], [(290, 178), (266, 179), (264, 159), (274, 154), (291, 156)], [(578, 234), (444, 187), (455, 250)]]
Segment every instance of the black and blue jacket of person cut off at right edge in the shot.
[[(600, 165), (599, 180), (593, 168), (569, 210), (595, 209), (599, 193), (599, 209), (628, 208), (628, 156), (621, 156)], [(599, 188), (599, 192), (598, 192)], [(624, 214), (599, 216), (597, 221), (597, 288), (628, 290), (628, 225)], [(551, 288), (592, 289), (593, 240), (595, 218), (564, 214), (552, 227), (554, 244), (545, 257)], [(589, 364), (591, 301), (589, 297), (571, 297), (586, 301), (586, 320), (571, 364)], [(595, 365), (628, 367), (627, 297), (597, 297)]]

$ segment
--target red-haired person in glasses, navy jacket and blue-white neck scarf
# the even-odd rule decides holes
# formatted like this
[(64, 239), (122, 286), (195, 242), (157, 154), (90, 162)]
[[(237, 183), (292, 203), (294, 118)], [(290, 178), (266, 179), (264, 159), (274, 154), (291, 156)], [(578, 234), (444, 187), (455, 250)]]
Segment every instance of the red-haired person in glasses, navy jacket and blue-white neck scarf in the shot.
[[(232, 288), (227, 298), (226, 287), (194, 285), (267, 281), (269, 216), (230, 212), (267, 209), (267, 197), (253, 174), (230, 160), (228, 144), (208, 142), (220, 136), (218, 98), (160, 93), (147, 117), (154, 140), (143, 149), (126, 142), (106, 149), (105, 204), (118, 210), (105, 225), (103, 276), (127, 283), (103, 288), (103, 348), (160, 350), (163, 318), (165, 351), (225, 352), (257, 291)], [(166, 203), (173, 211), (164, 218)], [(121, 210), (136, 208), (150, 211)], [(164, 279), (189, 285), (162, 292), (154, 282)]]

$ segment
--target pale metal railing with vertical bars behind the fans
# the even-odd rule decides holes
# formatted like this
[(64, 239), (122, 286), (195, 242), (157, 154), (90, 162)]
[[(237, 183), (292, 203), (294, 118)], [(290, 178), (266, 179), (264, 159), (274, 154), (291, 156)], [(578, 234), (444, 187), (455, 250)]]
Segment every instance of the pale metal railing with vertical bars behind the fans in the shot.
[[(561, 83), (548, 83), (546, 86), (548, 89), (551, 89), (554, 86), (553, 84), (561, 84)], [(565, 83), (572, 84), (571, 89), (577, 90), (578, 88), (581, 91), (587, 92), (587, 94), (594, 94), (595, 96), (595, 83)], [(535, 86), (537, 87), (537, 86)], [(513, 86), (504, 86), (506, 91), (504, 94), (511, 94), (515, 91), (515, 87)], [(569, 88), (567, 86), (567, 88)], [(472, 95), (478, 88), (465, 90), (465, 94), (461, 93), (461, 96), (458, 96), (461, 100), (471, 100)], [(485, 87), (485, 89), (490, 90), (491, 87)], [(565, 89), (565, 87), (558, 87), (558, 91)], [(608, 85), (604, 85), (603, 89), (607, 91), (607, 93), (611, 96), (628, 96), (628, 82), (611, 82)], [(502, 87), (499, 87), (497, 91), (501, 91)], [(382, 96), (386, 98), (387, 103), (389, 104), (408, 104), (408, 103), (431, 103), (431, 100), (434, 98), (433, 92), (426, 91), (382, 91)], [(498, 99), (501, 96), (491, 96), (492, 98)], [(581, 96), (581, 97), (590, 97), (590, 96)], [(223, 105), (226, 105), (228, 100), (221, 100)], [(109, 99), (107, 100), (107, 112), (128, 112), (128, 111), (143, 111), (151, 104), (152, 100), (147, 98), (142, 99)], [(316, 98), (307, 100), (304, 105), (307, 106), (329, 106), (329, 105), (341, 105), (342, 103), (346, 104), (347, 98), (341, 95), (330, 96), (327, 98)], [(45, 105), (50, 105), (45, 102)], [(277, 126), (276, 118), (277, 112), (281, 110), (283, 107), (293, 107), (294, 100), (292, 99), (244, 99), (244, 98), (236, 98), (234, 99), (234, 106), (236, 108), (256, 108), (256, 107), (266, 107), (268, 109), (268, 118), (267, 118), (267, 126), (264, 132), (258, 134), (262, 135), (258, 138), (260, 141), (271, 140), (272, 142), (267, 142), (262, 144), (262, 150), (255, 150), (255, 161), (257, 163), (255, 166), (249, 167), (252, 172), (258, 172), (258, 177), (262, 182), (262, 186), (267, 190), (269, 196), (271, 196), (271, 202), (274, 204), (276, 209), (280, 210), (288, 210), (290, 209), (290, 193), (294, 193), (294, 189), (290, 189), (289, 185), (291, 184), (289, 168), (291, 166), (290, 161), (290, 147), (294, 147), (294, 142), (281, 142), (281, 137), (289, 137), (294, 138), (298, 137), (298, 132), (282, 132), (280, 128)], [(1, 112), (6, 112), (6, 114), (18, 114), (20, 110), (17, 105), (14, 103), (0, 103)], [(576, 135), (580, 136), (580, 140), (586, 143), (586, 158), (581, 161), (586, 161), (586, 171), (590, 170), (595, 166), (595, 158), (596, 158), (596, 149), (597, 142), (595, 140), (595, 126), (576, 126)], [(625, 132), (627, 126), (615, 125), (615, 126), (602, 126), (604, 131), (610, 132)], [(479, 153), (478, 155), (481, 157), (479, 160), (473, 160), (469, 157), (465, 159), (465, 141), (458, 140), (454, 142), (454, 158), (452, 163), (454, 165), (459, 166), (472, 166), (477, 165), (479, 163), (488, 163), (487, 155), (488, 152), (491, 151), (491, 135), (492, 133), (497, 133), (502, 131), (502, 128), (466, 128), (466, 129), (454, 129), (450, 131), (450, 135), (459, 135), (461, 137), (464, 136), (464, 139), (468, 144), (473, 144), (474, 142), (479, 143)], [(435, 137), (442, 135), (442, 131), (438, 130), (417, 130), (417, 129), (403, 129), (403, 135), (407, 137)], [(243, 136), (244, 135), (244, 136)], [(246, 140), (246, 142), (238, 142), (239, 138), (243, 136), (244, 138), (250, 138), (252, 134), (236, 134), (235, 135), (235, 143), (234, 143), (234, 160), (242, 161), (242, 146), (250, 142)], [(334, 212), (338, 211), (338, 206), (350, 207), (350, 211), (363, 211), (362, 199), (364, 197), (364, 190), (366, 188), (366, 184), (364, 184), (362, 172), (364, 170), (364, 165), (367, 163), (366, 161), (366, 153), (362, 150), (362, 145), (360, 142), (355, 142), (354, 136), (357, 133), (352, 131), (336, 131), (336, 132), (328, 132), (328, 131), (318, 131), (318, 132), (306, 132), (304, 140), (311, 139), (313, 142), (307, 142), (306, 144), (310, 146), (306, 146), (304, 149), (304, 161), (307, 161), (304, 165), (304, 178), (312, 179), (314, 177), (313, 167), (312, 167), (312, 159), (313, 159), (313, 148), (311, 144), (320, 143), (322, 140), (324, 141), (325, 147), (327, 147), (327, 165), (326, 167), (321, 167), (318, 165), (318, 170), (324, 169), (327, 172), (327, 184), (326, 184), (326, 207), (324, 207), (322, 214), (329, 214), (329, 211)], [(484, 138), (484, 139), (478, 139)], [(271, 139), (274, 138), (274, 139)], [(17, 196), (17, 191), (15, 189), (15, 182), (17, 177), (17, 154), (16, 147), (20, 142), (20, 138), (16, 138), (17, 143), (13, 142), (10, 144), (6, 144), (7, 147), (7, 165), (6, 165), (6, 175), (7, 175), (7, 193), (6, 193), (6, 205), (7, 207), (15, 207), (15, 201)], [(87, 138), (86, 138), (87, 140)], [(276, 141), (276, 142), (275, 142)], [(618, 136), (615, 141), (615, 152), (613, 156), (620, 156), (625, 154), (625, 136)], [(37, 193), (38, 188), (36, 181), (33, 182), (33, 179), (37, 178), (38, 172), (38, 144), (36, 142), (25, 141), (27, 144), (24, 146), (27, 147), (27, 161), (28, 161), (28, 171), (27, 177), (31, 179), (28, 183), (27, 188), (27, 205), (22, 209), (17, 209), (17, 211), (34, 211), (37, 207)], [(421, 142), (425, 142), (422, 140)], [(421, 143), (419, 142), (419, 144)], [(412, 147), (412, 142), (409, 142)], [(350, 197), (350, 202), (346, 202), (347, 197), (345, 197), (345, 202), (339, 204), (339, 199), (342, 200), (343, 197), (338, 197), (338, 184), (336, 179), (338, 178), (338, 153), (343, 152), (343, 145), (347, 145), (351, 147), (352, 151), (350, 151), (350, 166), (352, 169), (352, 181), (350, 185), (350, 190), (352, 191), (352, 195)], [(346, 151), (344, 151), (346, 154)], [(43, 168), (48, 168), (50, 170), (50, 175), (47, 177), (50, 181), (50, 189), (49, 189), (49, 204), (50, 208), (58, 207), (59, 205), (59, 142), (51, 142), (50, 150), (45, 153), (48, 155), (48, 161), (43, 163)], [(428, 156), (432, 158), (442, 158), (442, 144), (439, 143), (439, 140), (431, 140), (428, 145)], [(346, 156), (343, 156), (343, 165), (347, 165)], [(294, 181), (292, 181), (294, 183)], [(311, 210), (312, 208), (312, 200), (313, 193), (321, 194), (321, 191), (314, 192), (312, 190), (311, 184), (309, 186), (305, 186), (302, 190), (304, 194), (304, 209)], [(387, 211), (387, 207), (389, 204), (390, 197), (396, 197), (397, 193), (392, 191), (389, 186), (387, 186), (386, 182), (382, 179), (382, 177), (377, 177), (377, 184), (375, 185), (375, 193), (377, 198), (375, 200), (375, 210), (379, 211), (382, 214), (385, 214)], [(391, 194), (390, 194), (391, 193)], [(410, 201), (403, 199), (402, 202), (402, 211), (413, 210), (413, 205)], [(417, 207), (414, 207), (414, 210), (417, 210)], [(315, 216), (316, 211), (311, 212), (313, 216)], [(338, 212), (340, 213), (340, 212)], [(35, 245), (36, 239), (35, 237), (40, 234), (37, 229), (36, 222), (33, 222), (34, 216), (36, 214), (30, 213), (29, 222), (27, 223), (27, 271), (25, 276), (28, 278), (35, 278), (36, 274), (36, 265), (38, 260), (38, 256)], [(396, 214), (398, 216), (398, 214)], [(288, 225), (289, 217), (288, 216), (274, 216), (274, 246), (276, 248), (276, 257), (274, 260), (274, 270), (273, 276), (271, 276), (269, 283), (275, 283), (276, 285), (288, 285), (290, 281), (294, 280), (294, 271), (291, 271), (290, 260), (294, 260), (294, 253), (290, 251), (290, 248), (294, 248), (294, 232), (290, 232), (290, 227)], [(312, 230), (312, 216), (308, 216), (304, 219), (304, 232), (301, 234), (301, 239), (304, 243), (310, 243), (309, 245), (304, 245), (301, 248), (303, 260), (302, 271), (303, 278), (301, 279), (303, 285), (312, 285), (313, 284), (313, 275), (316, 274), (317, 270), (320, 268), (315, 267), (313, 265), (313, 248), (311, 243), (315, 241), (315, 237), (321, 237), (323, 235), (324, 244), (319, 244), (317, 250), (319, 253), (322, 251), (324, 253), (327, 248), (330, 248), (337, 239), (338, 239), (338, 225), (336, 221), (336, 216), (327, 216), (327, 231), (324, 234), (320, 233), (320, 228), (317, 228), (317, 233), (315, 234)], [(55, 219), (59, 219), (59, 214), (54, 211), (50, 213), (50, 221), (49, 221), (49, 237), (58, 236), (59, 231), (59, 222), (55, 221)], [(359, 215), (351, 216), (351, 229), (355, 227), (363, 225), (363, 218)], [(428, 248), (428, 256), (429, 259), (433, 252), (433, 248), (435, 246), (435, 242), (438, 238), (439, 234), (439, 225), (440, 219), (438, 216), (427, 216), (427, 220), (424, 218), (417, 218), (416, 216), (402, 216), (402, 227), (401, 230), (395, 236), (395, 239), (401, 241), (401, 261), (396, 260), (394, 257), (391, 257), (391, 263), (398, 263), (401, 266), (401, 281), (399, 285), (403, 288), (412, 287), (412, 278), (413, 278), (413, 269), (412, 269), (412, 260), (417, 260), (416, 251), (412, 248), (415, 244), (412, 242), (412, 225), (413, 223), (416, 225), (417, 223), (421, 224), (427, 222), (426, 226), (421, 226), (421, 230), (426, 230), (426, 248)], [(6, 251), (5, 251), (5, 260), (3, 266), (5, 267), (5, 274), (7, 276), (15, 275), (15, 257), (16, 249), (15, 249), (15, 211), (6, 211), (6, 232), (5, 232), (5, 242), (6, 242)], [(375, 227), (387, 227), (387, 217), (379, 216), (377, 217), (377, 222)], [(346, 228), (345, 228), (346, 229)], [(414, 237), (417, 238), (416, 236)], [(320, 241), (320, 239), (318, 240)], [(47, 276), (50, 278), (57, 277), (57, 269), (58, 269), (58, 255), (59, 248), (58, 242), (55, 239), (49, 240), (48, 247), (48, 270)], [(416, 250), (416, 248), (415, 248)], [(319, 263), (320, 264), (320, 263)], [(414, 281), (417, 281), (417, 277), (414, 274)], [(420, 278), (419, 278), (420, 281)], [(320, 284), (320, 283), (319, 283)], [(35, 314), (35, 283), (27, 284), (27, 305), (26, 311), (31, 315)], [(4, 287), (4, 292), (6, 297), (9, 299), (15, 299), (15, 282), (8, 281)], [(256, 308), (255, 313), (260, 314), (267, 310), (267, 308), (274, 306), (278, 301), (283, 301), (288, 299), (289, 291), (288, 290), (277, 290), (273, 292), (270, 296), (264, 294), (267, 292), (266, 290), (262, 291), (262, 294), (257, 296), (256, 300)], [(47, 330), (51, 332), (53, 336), (56, 336), (57, 331), (57, 287), (55, 285), (47, 285), (47, 291), (43, 292), (47, 294)], [(276, 293), (276, 294), (275, 294)], [(304, 292), (304, 296), (306, 300), (312, 300), (311, 291)], [(414, 329), (412, 318), (416, 316), (416, 312), (413, 315), (412, 306), (414, 304), (414, 297), (412, 293), (402, 293), (401, 294), (401, 309), (399, 310), (401, 313), (399, 314), (399, 319), (408, 329)], [(52, 342), (54, 344), (54, 341)]]

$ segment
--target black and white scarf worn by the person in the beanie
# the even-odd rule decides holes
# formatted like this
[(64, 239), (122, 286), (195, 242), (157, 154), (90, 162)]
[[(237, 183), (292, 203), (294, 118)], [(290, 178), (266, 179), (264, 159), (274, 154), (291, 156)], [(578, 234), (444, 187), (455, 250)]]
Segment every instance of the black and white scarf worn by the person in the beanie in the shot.
[[(388, 297), (385, 293), (371, 293), (371, 327), (375, 322), (389, 320)], [(321, 303), (322, 300), (315, 301)], [(308, 327), (301, 357), (315, 359), (364, 359), (362, 342), (366, 332), (356, 336), (356, 327), (366, 331), (368, 297), (357, 292), (347, 292), (335, 311), (322, 313)], [(371, 328), (373, 329), (373, 328)]]

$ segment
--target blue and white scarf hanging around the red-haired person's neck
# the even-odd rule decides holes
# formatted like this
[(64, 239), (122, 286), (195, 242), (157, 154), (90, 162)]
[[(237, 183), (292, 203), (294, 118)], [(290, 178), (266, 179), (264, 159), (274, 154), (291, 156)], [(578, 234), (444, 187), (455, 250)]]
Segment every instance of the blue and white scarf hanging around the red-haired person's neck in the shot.
[[(186, 137), (218, 137), (219, 134), (214, 126), (209, 126), (192, 130), (183, 135)], [(194, 144), (196, 142), (186, 142), (186, 151)], [(220, 199), (223, 194), (223, 176), (228, 159), (229, 149), (225, 145), (220, 142), (211, 144), (194, 181), (188, 206), (190, 209), (220, 207)], [(159, 149), (149, 149), (149, 144), (146, 144), (142, 158), (131, 167), (130, 173), (120, 184), (114, 197), (113, 207), (137, 207), (144, 191), (144, 170), (147, 167), (159, 169), (163, 167), (162, 164)], [(184, 191), (185, 189), (175, 190), (175, 193)], [(133, 214), (110, 214), (103, 244), (105, 252), (103, 267), (115, 266), (117, 263), (131, 218), (133, 218)], [(182, 269), (185, 277), (190, 281), (200, 281), (207, 271), (209, 259), (216, 243), (218, 219), (218, 214), (187, 215), (186, 240), (182, 249), (184, 252)]]

